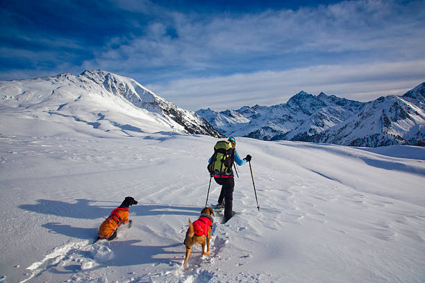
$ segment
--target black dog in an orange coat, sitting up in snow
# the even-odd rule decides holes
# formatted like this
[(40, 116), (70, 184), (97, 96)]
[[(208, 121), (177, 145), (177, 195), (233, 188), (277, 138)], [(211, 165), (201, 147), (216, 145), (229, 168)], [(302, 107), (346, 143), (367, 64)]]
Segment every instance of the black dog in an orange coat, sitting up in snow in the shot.
[(133, 221), (128, 220), (128, 207), (137, 204), (138, 201), (131, 196), (124, 198), (122, 204), (115, 208), (113, 212), (111, 212), (110, 216), (103, 221), (99, 228), (97, 239), (94, 243), (96, 243), (99, 239), (107, 239), (108, 241), (115, 239), (117, 237), (117, 228), (122, 224), (128, 223), (128, 228), (131, 228)]

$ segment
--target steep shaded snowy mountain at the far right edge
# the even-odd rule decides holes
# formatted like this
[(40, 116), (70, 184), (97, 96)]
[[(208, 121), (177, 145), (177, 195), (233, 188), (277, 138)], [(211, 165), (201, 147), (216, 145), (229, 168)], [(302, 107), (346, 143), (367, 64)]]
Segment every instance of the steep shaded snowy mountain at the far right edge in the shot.
[(425, 146), (424, 93), (422, 83), (403, 96), (380, 97), (347, 121), (305, 140), (349, 146)]

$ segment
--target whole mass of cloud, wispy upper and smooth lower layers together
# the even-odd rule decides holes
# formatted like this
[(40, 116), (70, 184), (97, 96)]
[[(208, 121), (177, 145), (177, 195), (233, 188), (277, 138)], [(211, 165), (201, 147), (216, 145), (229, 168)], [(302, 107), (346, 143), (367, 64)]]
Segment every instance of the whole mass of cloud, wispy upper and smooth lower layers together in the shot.
[(56, 43), (58, 53), (17, 50), (16, 57), (34, 65), (51, 58), (54, 70), (129, 76), (191, 110), (274, 105), (301, 90), (370, 101), (402, 94), (425, 78), (423, 1), (212, 15), (170, 11), (149, 0), (111, 1), (126, 15), (149, 14), (150, 22), (126, 19), (135, 22), (133, 32), (97, 46), (94, 58), (78, 66), (60, 56), (66, 39)]

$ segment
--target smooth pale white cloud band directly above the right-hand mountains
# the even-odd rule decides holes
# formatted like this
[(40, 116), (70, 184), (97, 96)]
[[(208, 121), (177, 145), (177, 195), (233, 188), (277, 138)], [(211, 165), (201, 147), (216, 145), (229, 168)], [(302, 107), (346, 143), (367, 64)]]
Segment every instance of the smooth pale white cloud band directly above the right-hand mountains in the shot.
[(242, 105), (285, 103), (301, 90), (356, 101), (401, 95), (425, 81), (425, 60), (362, 65), (319, 65), (286, 71), (259, 71), (213, 78), (146, 85), (156, 94), (190, 110), (238, 109)]

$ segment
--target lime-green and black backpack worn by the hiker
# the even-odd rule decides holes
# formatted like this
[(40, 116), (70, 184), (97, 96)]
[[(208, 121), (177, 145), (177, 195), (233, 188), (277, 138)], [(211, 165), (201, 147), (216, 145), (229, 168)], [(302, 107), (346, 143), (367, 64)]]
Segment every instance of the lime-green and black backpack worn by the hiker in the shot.
[(208, 172), (213, 175), (233, 175), (232, 166), (235, 158), (235, 148), (230, 141), (217, 141), (214, 154), (208, 164)]

